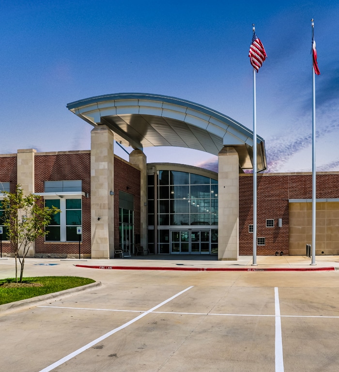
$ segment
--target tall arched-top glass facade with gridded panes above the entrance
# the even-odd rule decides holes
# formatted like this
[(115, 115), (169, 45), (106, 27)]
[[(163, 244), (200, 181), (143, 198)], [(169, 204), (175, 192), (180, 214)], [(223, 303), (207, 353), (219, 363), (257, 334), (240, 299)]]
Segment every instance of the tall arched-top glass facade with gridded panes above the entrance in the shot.
[(160, 254), (217, 253), (217, 180), (200, 174), (164, 170), (158, 171), (156, 185), (154, 175), (149, 175), (147, 187), (150, 251), (155, 250), (156, 223)]

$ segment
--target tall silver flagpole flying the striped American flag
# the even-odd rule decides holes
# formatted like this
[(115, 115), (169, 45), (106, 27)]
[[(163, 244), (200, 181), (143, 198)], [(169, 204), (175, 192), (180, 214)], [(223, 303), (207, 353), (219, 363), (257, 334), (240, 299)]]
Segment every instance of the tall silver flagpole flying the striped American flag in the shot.
[[(255, 27), (253, 26), (253, 34)], [(257, 99), (256, 71), (253, 67), (253, 263), (257, 265)]]

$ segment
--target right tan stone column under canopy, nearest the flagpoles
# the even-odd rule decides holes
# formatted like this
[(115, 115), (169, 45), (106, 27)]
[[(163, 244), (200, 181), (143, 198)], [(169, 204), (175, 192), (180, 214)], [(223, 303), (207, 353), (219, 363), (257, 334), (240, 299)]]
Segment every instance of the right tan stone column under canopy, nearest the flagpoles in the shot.
[(218, 154), (218, 260), (239, 258), (239, 156), (233, 147)]

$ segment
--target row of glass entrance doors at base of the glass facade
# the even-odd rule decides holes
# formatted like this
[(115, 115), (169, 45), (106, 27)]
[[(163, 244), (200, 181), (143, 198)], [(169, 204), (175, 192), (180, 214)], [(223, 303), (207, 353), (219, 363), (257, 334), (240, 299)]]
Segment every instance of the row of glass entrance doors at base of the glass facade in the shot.
[(170, 253), (210, 254), (211, 241), (209, 230), (171, 231)]

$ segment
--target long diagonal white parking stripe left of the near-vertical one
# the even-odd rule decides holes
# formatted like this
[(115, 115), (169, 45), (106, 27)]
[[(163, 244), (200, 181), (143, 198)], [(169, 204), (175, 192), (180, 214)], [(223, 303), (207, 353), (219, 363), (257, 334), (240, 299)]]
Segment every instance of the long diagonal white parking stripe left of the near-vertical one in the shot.
[(161, 302), (160, 304), (154, 306), (152, 309), (148, 310), (148, 311), (145, 311), (143, 312), (142, 314), (140, 314), (139, 316), (137, 316), (136, 318), (130, 320), (129, 322), (121, 325), (120, 327), (117, 327), (117, 328), (114, 328), (112, 329), (111, 331), (109, 331), (108, 333), (106, 333), (105, 335), (93, 340), (92, 342), (89, 342), (87, 345), (81, 347), (80, 349), (74, 351), (73, 353), (71, 354), (68, 354), (67, 356), (64, 356), (62, 359), (59, 359), (58, 361), (56, 361), (55, 363), (51, 364), (50, 366), (44, 368), (43, 370), (39, 371), (39, 372), (49, 372), (49, 371), (52, 371), (54, 370), (54, 368), (57, 368), (59, 367), (60, 365), (62, 365), (63, 363), (67, 362), (68, 360), (74, 358), (75, 356), (81, 354), (83, 351), (89, 349), (90, 347), (94, 346), (95, 344), (97, 344), (98, 342), (100, 341), (103, 341), (105, 339), (107, 339), (109, 336), (113, 335), (114, 333), (120, 331), (121, 329), (123, 328), (126, 328), (128, 325), (131, 325), (133, 324), (134, 322), (136, 322), (137, 320), (143, 318), (145, 315), (151, 313), (152, 311), (160, 308), (161, 306), (167, 304), (168, 302), (170, 302), (171, 300), (173, 300), (174, 298), (180, 296), (181, 294), (185, 293), (186, 291), (190, 290), (191, 288), (193, 288), (194, 286), (190, 286), (186, 289), (184, 289), (183, 291), (177, 293), (177, 294), (174, 294), (174, 296), (168, 298), (167, 300)]

